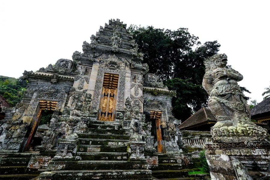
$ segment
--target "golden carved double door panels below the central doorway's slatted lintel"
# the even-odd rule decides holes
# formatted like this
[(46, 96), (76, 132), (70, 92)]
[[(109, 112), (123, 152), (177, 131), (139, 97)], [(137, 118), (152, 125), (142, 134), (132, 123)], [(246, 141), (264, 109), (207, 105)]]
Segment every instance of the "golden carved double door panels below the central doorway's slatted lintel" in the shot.
[(116, 109), (116, 89), (102, 88), (101, 101), (98, 109), (98, 120), (114, 121)]

